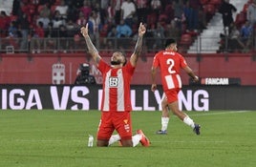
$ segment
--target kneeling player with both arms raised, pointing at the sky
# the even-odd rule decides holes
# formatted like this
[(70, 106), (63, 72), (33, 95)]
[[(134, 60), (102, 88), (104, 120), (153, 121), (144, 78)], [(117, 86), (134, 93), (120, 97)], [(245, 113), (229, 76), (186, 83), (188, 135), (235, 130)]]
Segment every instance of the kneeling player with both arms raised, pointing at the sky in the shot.
[[(139, 35), (135, 50), (126, 61), (123, 52), (114, 52), (111, 57), (111, 65), (108, 65), (99, 55), (96, 47), (88, 34), (88, 24), (80, 29), (84, 36), (88, 52), (96, 62), (98, 70), (103, 76), (103, 94), (101, 102), (101, 118), (98, 125), (96, 145), (99, 147), (109, 146), (120, 140), (125, 147), (134, 147), (139, 144), (149, 146), (148, 138), (141, 130), (132, 136), (132, 111), (130, 97), (130, 82), (135, 72), (139, 55), (142, 50), (142, 38), (146, 32), (145, 26), (139, 24)], [(112, 136), (114, 131), (118, 135)]]

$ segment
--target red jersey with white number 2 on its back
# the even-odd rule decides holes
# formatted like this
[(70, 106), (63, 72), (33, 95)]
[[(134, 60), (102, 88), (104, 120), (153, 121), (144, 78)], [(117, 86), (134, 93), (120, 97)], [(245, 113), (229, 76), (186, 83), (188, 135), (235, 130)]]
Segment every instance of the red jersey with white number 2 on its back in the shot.
[(153, 67), (160, 67), (163, 91), (181, 89), (180, 71), (186, 66), (184, 57), (178, 52), (160, 51), (156, 53)]

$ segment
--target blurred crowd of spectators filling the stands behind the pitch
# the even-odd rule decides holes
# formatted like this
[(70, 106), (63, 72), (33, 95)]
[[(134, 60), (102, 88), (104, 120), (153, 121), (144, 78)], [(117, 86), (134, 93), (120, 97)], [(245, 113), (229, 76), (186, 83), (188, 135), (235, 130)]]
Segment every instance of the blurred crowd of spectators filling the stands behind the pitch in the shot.
[[(9, 45), (24, 52), (75, 51), (84, 46), (79, 29), (87, 22), (93, 42), (103, 50), (113, 47), (129, 50), (129, 43), (134, 42), (131, 39), (136, 37), (142, 22), (148, 29), (146, 49), (159, 50), (164, 38), (174, 37), (180, 41), (182, 51), (206, 28), (223, 3), (223, 0), (13, 0), (10, 14), (1, 10), (1, 51)], [(254, 3), (255, 0), (248, 1), (250, 6)], [(245, 20), (234, 23), (241, 25)]]

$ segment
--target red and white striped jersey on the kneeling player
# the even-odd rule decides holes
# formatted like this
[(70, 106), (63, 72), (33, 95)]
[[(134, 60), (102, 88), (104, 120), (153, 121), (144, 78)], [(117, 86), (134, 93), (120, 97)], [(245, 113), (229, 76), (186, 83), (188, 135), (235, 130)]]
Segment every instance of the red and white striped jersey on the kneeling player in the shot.
[(97, 68), (103, 76), (101, 111), (132, 111), (130, 83), (135, 67), (128, 61), (124, 67), (113, 69), (101, 59)]

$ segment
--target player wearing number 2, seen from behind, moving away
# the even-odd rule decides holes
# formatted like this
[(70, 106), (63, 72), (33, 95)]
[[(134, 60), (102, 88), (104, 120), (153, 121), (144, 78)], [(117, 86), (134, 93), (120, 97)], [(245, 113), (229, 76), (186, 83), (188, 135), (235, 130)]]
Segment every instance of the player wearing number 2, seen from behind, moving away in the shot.
[(190, 126), (196, 135), (200, 135), (201, 126), (196, 124), (188, 115), (181, 112), (178, 103), (178, 93), (181, 90), (180, 70), (183, 69), (196, 82), (199, 78), (186, 64), (184, 57), (177, 51), (176, 40), (167, 39), (165, 43), (165, 50), (156, 53), (151, 70), (151, 90), (153, 92), (157, 90), (156, 74), (157, 68), (160, 67), (161, 84), (163, 92), (167, 98), (169, 109), (185, 124)]

